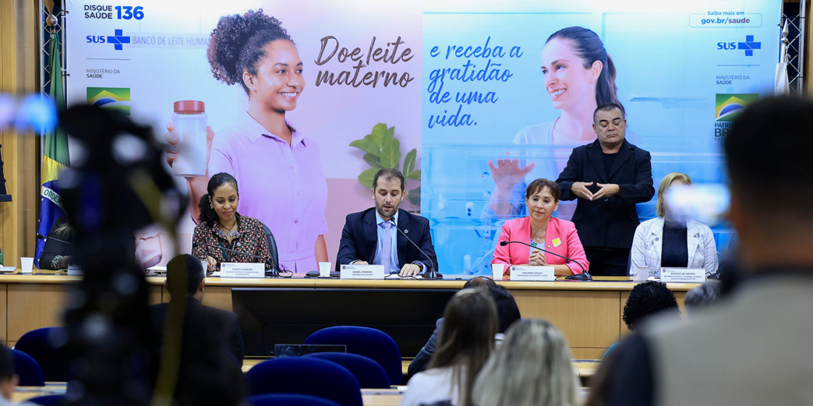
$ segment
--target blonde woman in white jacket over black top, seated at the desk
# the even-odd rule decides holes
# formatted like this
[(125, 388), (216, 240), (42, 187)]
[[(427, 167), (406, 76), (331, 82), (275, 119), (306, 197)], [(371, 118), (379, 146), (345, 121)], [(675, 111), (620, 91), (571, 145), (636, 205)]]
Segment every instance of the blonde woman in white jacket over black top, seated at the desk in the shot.
[(689, 175), (674, 172), (666, 175), (658, 188), (658, 217), (641, 222), (635, 230), (630, 253), (630, 275), (638, 267), (648, 267), (650, 274), (660, 276), (661, 268), (705, 268), (706, 276), (717, 272), (717, 246), (711, 228), (702, 222), (676, 221), (663, 205), (663, 195), (672, 184), (692, 184)]

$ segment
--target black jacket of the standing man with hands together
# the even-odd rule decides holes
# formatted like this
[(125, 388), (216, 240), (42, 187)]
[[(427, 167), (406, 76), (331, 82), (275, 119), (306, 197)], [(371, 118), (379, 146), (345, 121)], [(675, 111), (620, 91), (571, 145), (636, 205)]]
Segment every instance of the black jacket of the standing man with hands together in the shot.
[(652, 186), (650, 153), (624, 140), (607, 173), (602, 146), (598, 140), (573, 149), (567, 166), (556, 183), (562, 189), (561, 200), (572, 201), (574, 182), (593, 182), (588, 189), (598, 192), (596, 184), (617, 184), (615, 196), (595, 201), (578, 198), (572, 222), (576, 223), (581, 244), (585, 247), (631, 248), (635, 229), (640, 223), (636, 203), (650, 201)]

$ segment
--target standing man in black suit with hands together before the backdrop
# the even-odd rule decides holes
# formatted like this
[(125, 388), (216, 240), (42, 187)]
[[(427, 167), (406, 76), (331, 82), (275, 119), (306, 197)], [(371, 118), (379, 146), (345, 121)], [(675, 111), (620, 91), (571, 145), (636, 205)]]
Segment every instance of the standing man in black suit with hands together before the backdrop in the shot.
[(573, 149), (556, 183), (563, 201), (578, 198), (572, 222), (594, 275), (626, 275), (629, 250), (638, 227), (637, 203), (650, 201), (650, 153), (624, 140), (624, 108), (598, 106), (593, 130), (598, 140)]

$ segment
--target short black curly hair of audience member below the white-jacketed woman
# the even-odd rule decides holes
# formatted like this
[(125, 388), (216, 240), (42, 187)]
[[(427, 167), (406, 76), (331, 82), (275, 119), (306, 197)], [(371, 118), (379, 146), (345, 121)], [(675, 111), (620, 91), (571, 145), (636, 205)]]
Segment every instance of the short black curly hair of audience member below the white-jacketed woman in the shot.
[(656, 313), (680, 316), (675, 294), (666, 287), (666, 283), (646, 281), (633, 287), (627, 304), (624, 304), (623, 318), (629, 330), (636, 330), (643, 319)]

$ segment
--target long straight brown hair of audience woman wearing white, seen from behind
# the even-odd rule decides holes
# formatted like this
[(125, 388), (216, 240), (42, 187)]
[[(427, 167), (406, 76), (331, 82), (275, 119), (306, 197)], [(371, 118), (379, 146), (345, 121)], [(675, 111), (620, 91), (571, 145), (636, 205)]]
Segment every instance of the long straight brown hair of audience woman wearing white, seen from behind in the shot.
[(429, 368), (452, 368), (458, 404), (470, 404), (474, 379), (494, 348), (494, 300), (485, 289), (463, 289), (446, 304), (443, 320)]

